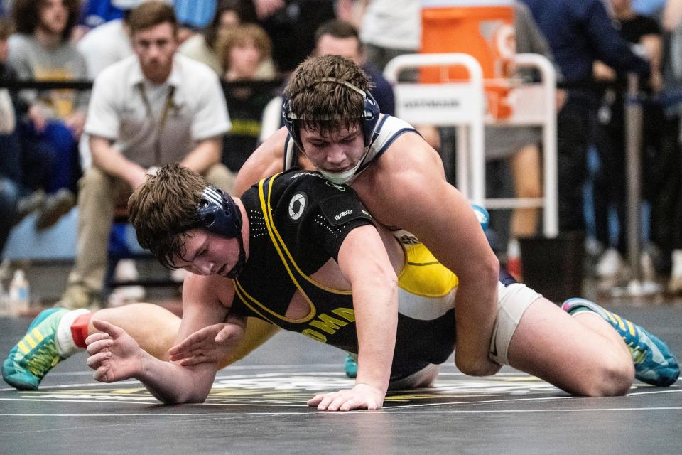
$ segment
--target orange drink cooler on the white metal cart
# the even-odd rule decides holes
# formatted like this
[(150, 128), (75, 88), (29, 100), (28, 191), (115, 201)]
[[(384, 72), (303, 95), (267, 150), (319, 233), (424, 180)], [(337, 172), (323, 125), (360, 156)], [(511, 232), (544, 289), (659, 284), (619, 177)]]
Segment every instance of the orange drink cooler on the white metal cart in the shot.
[[(514, 57), (514, 3), (511, 0), (423, 1), (421, 53), (467, 53), (481, 65), (489, 112), (509, 117), (504, 102)], [(422, 68), (420, 81), (438, 83), (468, 79), (464, 68)]]

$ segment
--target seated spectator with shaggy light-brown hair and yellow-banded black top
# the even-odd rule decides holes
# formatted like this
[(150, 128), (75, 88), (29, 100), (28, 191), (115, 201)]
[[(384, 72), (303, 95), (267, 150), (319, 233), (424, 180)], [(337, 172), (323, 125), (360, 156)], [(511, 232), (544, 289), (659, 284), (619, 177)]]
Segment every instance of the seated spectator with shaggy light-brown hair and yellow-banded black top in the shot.
[[(220, 47), (224, 80), (245, 82), (262, 79), (259, 68), (270, 58), (272, 50), (270, 38), (263, 28), (253, 23), (237, 26), (226, 33)], [(222, 162), (236, 177), (244, 161), (258, 146), (261, 115), (273, 93), (268, 87), (239, 84), (228, 84), (224, 93), (232, 129), (223, 139)]]

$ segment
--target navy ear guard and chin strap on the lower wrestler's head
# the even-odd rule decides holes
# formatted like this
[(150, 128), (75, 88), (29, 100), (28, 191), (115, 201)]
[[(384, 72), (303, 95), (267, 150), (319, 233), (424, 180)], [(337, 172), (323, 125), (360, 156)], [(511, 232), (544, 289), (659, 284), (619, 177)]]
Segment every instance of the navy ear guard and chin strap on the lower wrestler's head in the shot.
[(244, 240), (242, 239), (242, 212), (234, 203), (234, 199), (215, 186), (207, 186), (201, 192), (197, 217), (199, 218), (200, 228), (228, 239), (237, 239), (239, 259), (227, 274), (229, 278), (237, 278), (239, 272), (242, 272), (244, 268), (247, 255), (244, 252)]

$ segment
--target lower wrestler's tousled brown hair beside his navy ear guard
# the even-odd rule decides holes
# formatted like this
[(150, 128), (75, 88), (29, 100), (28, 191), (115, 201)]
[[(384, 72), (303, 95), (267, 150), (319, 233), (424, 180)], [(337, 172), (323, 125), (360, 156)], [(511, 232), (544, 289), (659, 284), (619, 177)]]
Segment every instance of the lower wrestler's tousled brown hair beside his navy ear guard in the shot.
[(183, 257), (187, 231), (199, 225), (197, 206), (206, 186), (199, 173), (167, 164), (148, 176), (128, 200), (137, 241), (168, 269), (175, 268), (173, 259)]

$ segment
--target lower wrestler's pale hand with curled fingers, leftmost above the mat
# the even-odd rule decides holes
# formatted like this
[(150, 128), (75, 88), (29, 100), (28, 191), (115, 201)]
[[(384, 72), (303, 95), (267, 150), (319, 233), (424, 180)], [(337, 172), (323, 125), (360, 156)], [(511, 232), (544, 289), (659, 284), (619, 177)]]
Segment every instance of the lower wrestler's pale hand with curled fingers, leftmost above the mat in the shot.
[(105, 321), (93, 320), (92, 325), (100, 332), (85, 338), (86, 363), (95, 380), (116, 382), (141, 373), (144, 351), (126, 331)]

